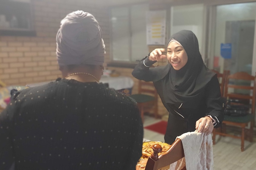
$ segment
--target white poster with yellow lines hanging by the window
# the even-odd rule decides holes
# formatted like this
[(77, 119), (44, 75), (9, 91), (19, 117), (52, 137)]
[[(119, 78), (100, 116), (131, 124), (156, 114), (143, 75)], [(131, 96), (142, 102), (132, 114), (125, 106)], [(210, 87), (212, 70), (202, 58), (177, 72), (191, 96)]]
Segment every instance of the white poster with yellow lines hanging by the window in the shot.
[(146, 13), (147, 45), (165, 45), (166, 11)]

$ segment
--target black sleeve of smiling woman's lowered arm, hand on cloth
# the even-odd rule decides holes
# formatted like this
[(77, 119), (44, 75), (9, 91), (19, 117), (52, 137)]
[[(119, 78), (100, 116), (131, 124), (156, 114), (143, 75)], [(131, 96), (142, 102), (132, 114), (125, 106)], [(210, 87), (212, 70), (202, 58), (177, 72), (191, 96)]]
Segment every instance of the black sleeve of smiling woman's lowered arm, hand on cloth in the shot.
[(211, 115), (212, 118), (217, 122), (217, 125), (214, 127), (218, 127), (224, 119), (224, 108), (223, 99), (220, 93), (219, 81), (216, 75), (206, 85), (206, 105), (206, 115)]

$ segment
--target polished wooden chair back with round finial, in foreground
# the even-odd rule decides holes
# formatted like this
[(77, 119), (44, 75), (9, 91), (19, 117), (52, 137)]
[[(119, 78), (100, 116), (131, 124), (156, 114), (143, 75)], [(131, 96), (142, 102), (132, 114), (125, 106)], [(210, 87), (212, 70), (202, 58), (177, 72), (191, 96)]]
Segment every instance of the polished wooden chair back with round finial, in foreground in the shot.
[[(154, 153), (152, 153), (148, 158), (145, 170), (157, 170), (185, 157), (183, 145), (180, 139), (177, 139), (166, 152), (159, 156), (158, 153), (162, 151), (162, 147), (155, 144), (152, 148)], [(186, 166), (181, 170), (186, 170)]]

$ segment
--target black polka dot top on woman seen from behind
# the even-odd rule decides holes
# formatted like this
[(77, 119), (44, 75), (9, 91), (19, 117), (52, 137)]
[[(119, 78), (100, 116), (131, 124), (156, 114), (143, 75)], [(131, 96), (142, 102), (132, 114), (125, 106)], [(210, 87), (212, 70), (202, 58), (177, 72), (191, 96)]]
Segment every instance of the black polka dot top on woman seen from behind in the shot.
[(136, 103), (97, 82), (57, 79), (18, 91), (0, 114), (0, 169), (135, 169)]

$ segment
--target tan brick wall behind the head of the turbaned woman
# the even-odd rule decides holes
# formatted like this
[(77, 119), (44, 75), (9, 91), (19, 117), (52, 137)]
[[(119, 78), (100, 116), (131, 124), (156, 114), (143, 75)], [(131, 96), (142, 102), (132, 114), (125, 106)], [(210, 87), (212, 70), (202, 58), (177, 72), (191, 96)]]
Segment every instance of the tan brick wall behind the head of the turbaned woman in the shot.
[(56, 61), (56, 33), (69, 12), (90, 12), (102, 28), (109, 61), (109, 17), (103, 3), (90, 0), (31, 0), (36, 37), (0, 36), (0, 79), (7, 85), (26, 85), (61, 76)]

